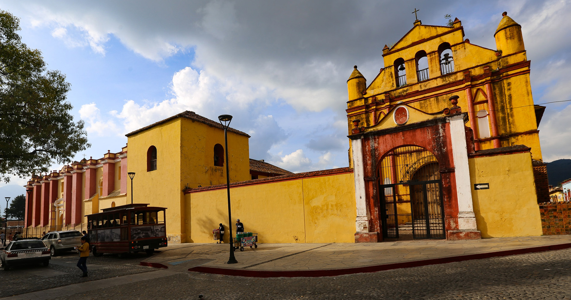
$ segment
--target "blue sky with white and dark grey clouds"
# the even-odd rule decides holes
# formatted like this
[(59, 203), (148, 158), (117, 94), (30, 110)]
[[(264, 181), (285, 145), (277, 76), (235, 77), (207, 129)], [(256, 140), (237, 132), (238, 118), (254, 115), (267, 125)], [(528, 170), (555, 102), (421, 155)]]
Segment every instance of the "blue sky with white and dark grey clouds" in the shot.
[[(3, 1), (21, 35), (71, 83), (99, 158), (125, 133), (184, 110), (249, 133), (250, 157), (292, 172), (345, 167), (346, 80), (368, 83), (382, 48), (413, 26), (462, 21), (472, 43), (496, 48), (502, 11), (522, 25), (534, 101), (571, 99), (571, 2), (566, 1)], [(545, 161), (571, 158), (571, 106), (548, 104)], [(55, 166), (54, 166), (55, 168)], [(10, 184), (25, 184), (14, 178)], [(1, 184), (3, 185), (3, 183)]]

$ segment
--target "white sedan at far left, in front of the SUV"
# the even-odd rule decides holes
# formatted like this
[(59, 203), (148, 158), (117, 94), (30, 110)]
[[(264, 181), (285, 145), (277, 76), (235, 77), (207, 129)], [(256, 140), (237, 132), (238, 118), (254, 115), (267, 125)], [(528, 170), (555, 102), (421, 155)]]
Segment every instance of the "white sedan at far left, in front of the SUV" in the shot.
[(30, 263), (43, 263), (44, 266), (50, 263), (50, 250), (46, 248), (40, 240), (18, 240), (6, 246), (0, 253), (2, 267), (9, 270), (10, 267), (26, 265)]

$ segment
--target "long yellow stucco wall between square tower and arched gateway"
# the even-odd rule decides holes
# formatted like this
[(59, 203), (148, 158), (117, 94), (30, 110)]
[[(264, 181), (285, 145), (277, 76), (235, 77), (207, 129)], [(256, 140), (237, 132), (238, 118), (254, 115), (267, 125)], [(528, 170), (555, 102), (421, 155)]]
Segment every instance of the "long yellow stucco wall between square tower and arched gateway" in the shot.
[[(235, 220), (265, 243), (354, 242), (353, 174), (312, 177), (231, 188), (232, 231)], [(186, 195), (187, 241), (213, 242), (212, 229), (228, 226), (226, 189)], [(228, 241), (228, 231), (224, 234)]]

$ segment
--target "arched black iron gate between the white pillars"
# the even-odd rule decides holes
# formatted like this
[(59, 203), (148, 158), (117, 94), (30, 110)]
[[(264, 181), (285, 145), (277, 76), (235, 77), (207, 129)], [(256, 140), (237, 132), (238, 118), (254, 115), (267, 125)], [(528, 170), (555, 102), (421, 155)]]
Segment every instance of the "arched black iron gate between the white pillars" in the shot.
[(439, 164), (417, 146), (394, 149), (379, 169), (380, 220), (384, 238), (399, 238), (412, 227), (413, 238), (445, 238)]

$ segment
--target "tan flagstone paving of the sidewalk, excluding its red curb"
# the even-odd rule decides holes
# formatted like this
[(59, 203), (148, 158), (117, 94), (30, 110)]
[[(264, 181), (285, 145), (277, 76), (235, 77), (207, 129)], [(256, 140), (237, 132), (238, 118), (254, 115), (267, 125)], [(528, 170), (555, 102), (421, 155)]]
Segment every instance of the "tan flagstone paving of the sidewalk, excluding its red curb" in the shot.
[(171, 244), (143, 262), (159, 263), (170, 270), (195, 266), (260, 271), (331, 270), (367, 267), (528, 249), (571, 243), (571, 236), (483, 238), (469, 241), (424, 240), (380, 243), (258, 244), (236, 250), (238, 263), (228, 264), (228, 244)]

